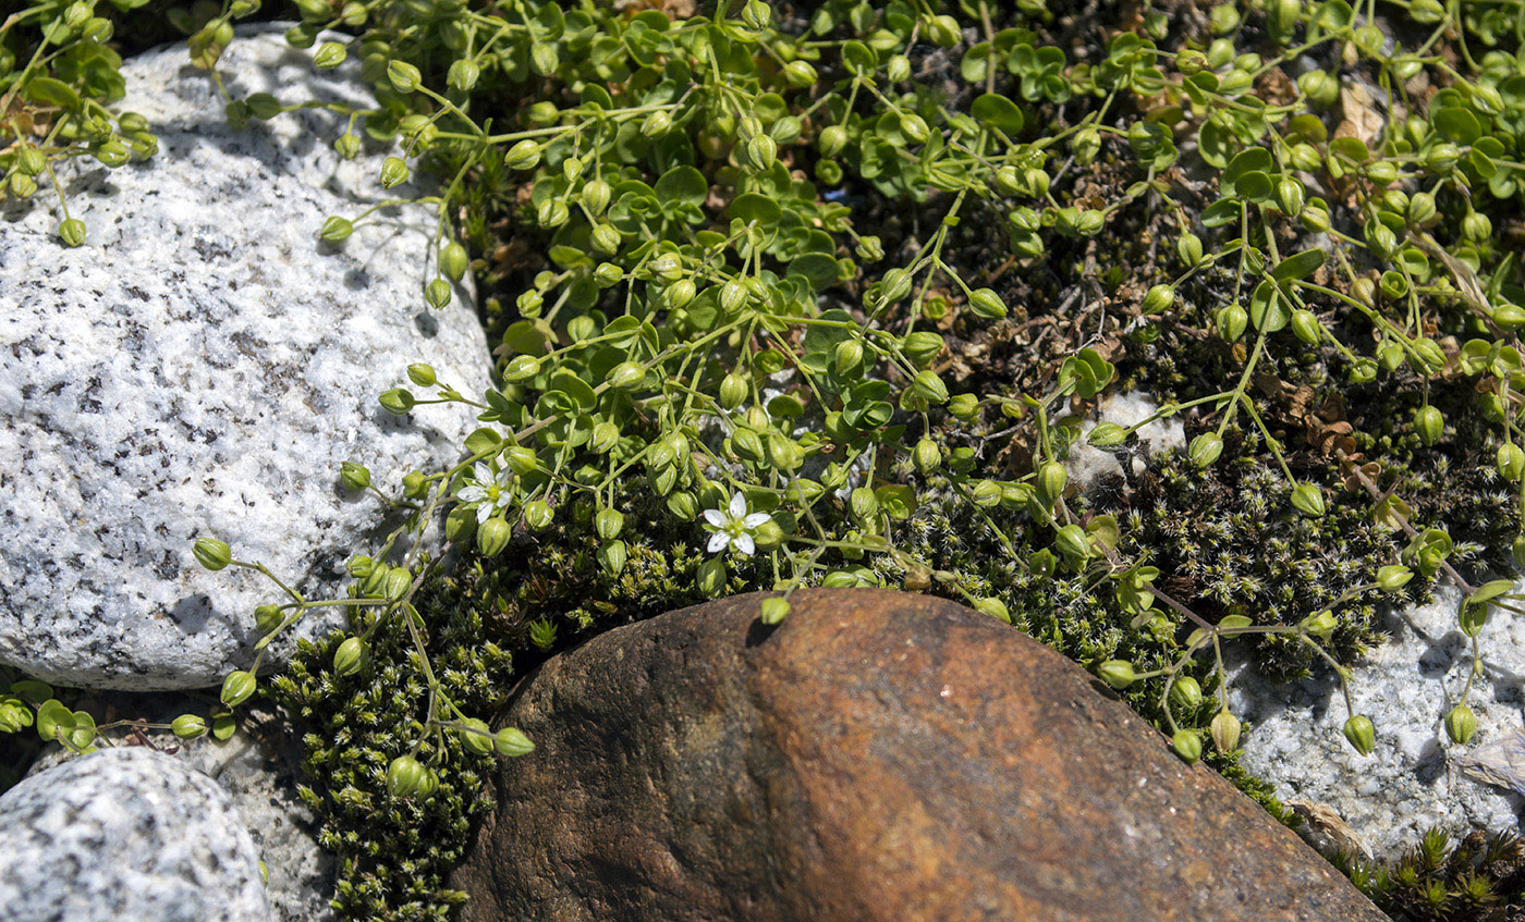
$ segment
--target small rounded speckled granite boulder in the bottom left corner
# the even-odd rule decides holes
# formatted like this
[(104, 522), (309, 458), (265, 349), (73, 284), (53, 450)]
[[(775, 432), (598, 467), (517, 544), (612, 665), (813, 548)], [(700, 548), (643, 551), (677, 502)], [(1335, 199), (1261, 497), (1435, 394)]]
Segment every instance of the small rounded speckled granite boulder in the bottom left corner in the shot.
[(143, 747), (0, 796), (0, 922), (264, 922), (259, 855), (227, 794)]

